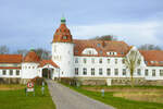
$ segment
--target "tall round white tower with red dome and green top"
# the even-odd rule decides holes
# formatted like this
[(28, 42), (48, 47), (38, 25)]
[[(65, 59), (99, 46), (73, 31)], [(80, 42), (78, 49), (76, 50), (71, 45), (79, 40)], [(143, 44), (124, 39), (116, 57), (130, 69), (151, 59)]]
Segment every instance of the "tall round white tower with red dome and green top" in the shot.
[(66, 27), (65, 17), (55, 31), (52, 40), (52, 61), (60, 66), (61, 77), (74, 76), (74, 44), (70, 29)]

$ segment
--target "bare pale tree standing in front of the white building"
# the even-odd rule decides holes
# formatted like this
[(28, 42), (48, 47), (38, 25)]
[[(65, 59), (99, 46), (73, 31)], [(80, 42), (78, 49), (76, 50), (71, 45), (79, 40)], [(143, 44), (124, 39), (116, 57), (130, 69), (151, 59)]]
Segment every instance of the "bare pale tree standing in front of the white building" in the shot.
[(133, 49), (128, 55), (124, 58), (125, 65), (129, 70), (131, 87), (134, 87), (134, 72), (141, 63), (141, 56), (138, 50)]

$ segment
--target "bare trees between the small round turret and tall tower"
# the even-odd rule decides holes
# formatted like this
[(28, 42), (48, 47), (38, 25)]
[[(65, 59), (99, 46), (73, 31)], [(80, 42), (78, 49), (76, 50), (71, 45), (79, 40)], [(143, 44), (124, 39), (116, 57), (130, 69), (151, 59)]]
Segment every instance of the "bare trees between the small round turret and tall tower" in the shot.
[(50, 51), (42, 48), (37, 48), (35, 51), (41, 59), (50, 59)]

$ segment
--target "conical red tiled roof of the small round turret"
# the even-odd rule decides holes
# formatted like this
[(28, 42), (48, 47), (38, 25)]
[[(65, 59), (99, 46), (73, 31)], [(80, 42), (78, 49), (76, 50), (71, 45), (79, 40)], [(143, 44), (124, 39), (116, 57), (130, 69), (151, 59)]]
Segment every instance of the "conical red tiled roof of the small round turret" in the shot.
[(24, 58), (24, 62), (39, 62), (39, 61), (40, 58), (37, 56), (35, 51), (29, 51)]

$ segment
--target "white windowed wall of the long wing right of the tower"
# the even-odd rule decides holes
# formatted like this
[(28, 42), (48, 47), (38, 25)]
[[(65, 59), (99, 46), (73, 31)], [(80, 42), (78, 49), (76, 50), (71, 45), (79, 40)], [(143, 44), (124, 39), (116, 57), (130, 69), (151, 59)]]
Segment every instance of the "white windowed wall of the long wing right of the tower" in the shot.
[[(123, 64), (123, 58), (117, 57), (74, 57), (74, 60), (78, 58), (78, 63), (74, 61), (74, 72), (75, 68), (78, 68), (78, 75), (76, 77), (85, 76), (85, 77), (130, 77), (129, 71), (126, 70), (126, 75), (123, 75), (123, 69), (126, 69), (125, 64)], [(91, 63), (91, 59), (95, 59), (95, 63)], [(84, 63), (84, 59), (87, 60), (87, 63)], [(99, 63), (99, 59), (102, 59), (102, 63)], [(108, 63), (108, 59), (110, 59), (110, 63)], [(115, 59), (117, 59), (117, 64), (115, 64)], [(160, 70), (163, 70), (163, 66), (147, 66), (143, 62), (143, 58), (140, 66), (140, 75), (138, 75), (137, 70), (134, 72), (134, 77), (145, 77), (146, 80), (163, 80), (163, 76), (160, 76)], [(87, 69), (87, 75), (83, 74), (83, 69)], [(95, 68), (95, 75), (91, 75), (91, 68)], [(103, 74), (99, 75), (99, 69), (102, 69)], [(111, 69), (111, 75), (106, 74), (106, 69)], [(114, 74), (114, 69), (118, 69), (118, 75)], [(149, 75), (146, 76), (145, 70), (149, 70)], [(152, 70), (155, 70), (155, 76), (152, 76)]]

